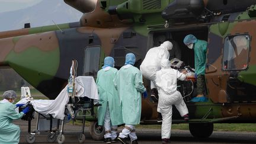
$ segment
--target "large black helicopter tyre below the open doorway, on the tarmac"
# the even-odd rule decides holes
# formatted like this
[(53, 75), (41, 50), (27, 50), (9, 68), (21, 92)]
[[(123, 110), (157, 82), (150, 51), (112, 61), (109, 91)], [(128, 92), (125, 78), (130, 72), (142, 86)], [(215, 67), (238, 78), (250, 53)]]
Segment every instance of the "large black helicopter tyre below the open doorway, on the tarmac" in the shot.
[(194, 137), (206, 138), (213, 133), (213, 123), (190, 123), (189, 129)]

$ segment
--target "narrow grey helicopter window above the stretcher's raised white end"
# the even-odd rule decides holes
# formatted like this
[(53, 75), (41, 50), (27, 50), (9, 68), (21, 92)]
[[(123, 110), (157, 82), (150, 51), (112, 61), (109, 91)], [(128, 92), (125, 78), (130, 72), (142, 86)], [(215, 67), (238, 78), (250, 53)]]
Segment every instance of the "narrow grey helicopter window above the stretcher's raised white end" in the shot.
[(85, 49), (84, 72), (86, 76), (97, 76), (100, 63), (100, 47), (87, 47)]

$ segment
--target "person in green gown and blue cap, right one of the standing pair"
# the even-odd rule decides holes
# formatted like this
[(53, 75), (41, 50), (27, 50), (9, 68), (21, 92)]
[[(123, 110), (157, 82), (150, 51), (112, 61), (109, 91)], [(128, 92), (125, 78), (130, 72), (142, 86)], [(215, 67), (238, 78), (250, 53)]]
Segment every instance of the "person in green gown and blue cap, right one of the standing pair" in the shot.
[[(124, 66), (117, 72), (114, 79), (114, 85), (120, 95), (121, 111), (123, 115), (124, 129), (119, 134), (117, 140), (121, 143), (137, 143), (135, 125), (140, 123), (140, 114), (142, 107), (141, 94), (147, 96), (146, 88), (143, 85), (142, 73), (133, 66), (136, 57), (133, 53), (127, 53)], [(131, 142), (127, 142), (129, 135)]]

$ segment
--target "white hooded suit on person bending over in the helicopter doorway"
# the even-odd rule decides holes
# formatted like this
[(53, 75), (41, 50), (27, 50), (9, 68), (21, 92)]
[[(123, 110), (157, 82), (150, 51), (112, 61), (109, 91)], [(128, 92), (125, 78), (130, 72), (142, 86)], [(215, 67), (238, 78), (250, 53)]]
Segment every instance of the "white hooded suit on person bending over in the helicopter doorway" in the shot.
[(146, 56), (140, 65), (140, 71), (142, 75), (153, 82), (151, 84), (151, 89), (155, 88), (155, 73), (161, 69), (161, 59), (169, 59), (168, 50), (172, 49), (172, 43), (170, 41), (165, 41), (159, 47), (153, 47), (149, 49)]

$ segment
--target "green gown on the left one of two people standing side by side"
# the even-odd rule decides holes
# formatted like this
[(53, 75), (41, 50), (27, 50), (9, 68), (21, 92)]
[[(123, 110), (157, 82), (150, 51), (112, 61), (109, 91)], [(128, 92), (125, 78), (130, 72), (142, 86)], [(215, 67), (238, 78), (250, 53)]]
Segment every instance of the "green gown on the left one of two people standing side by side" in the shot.
[(98, 107), (98, 124), (103, 125), (107, 102), (110, 111), (110, 120), (112, 126), (123, 123), (121, 116), (121, 105), (117, 89), (114, 87), (113, 79), (116, 76), (117, 69), (110, 68), (108, 71), (101, 69), (98, 71), (96, 84), (100, 96), (100, 104)]

